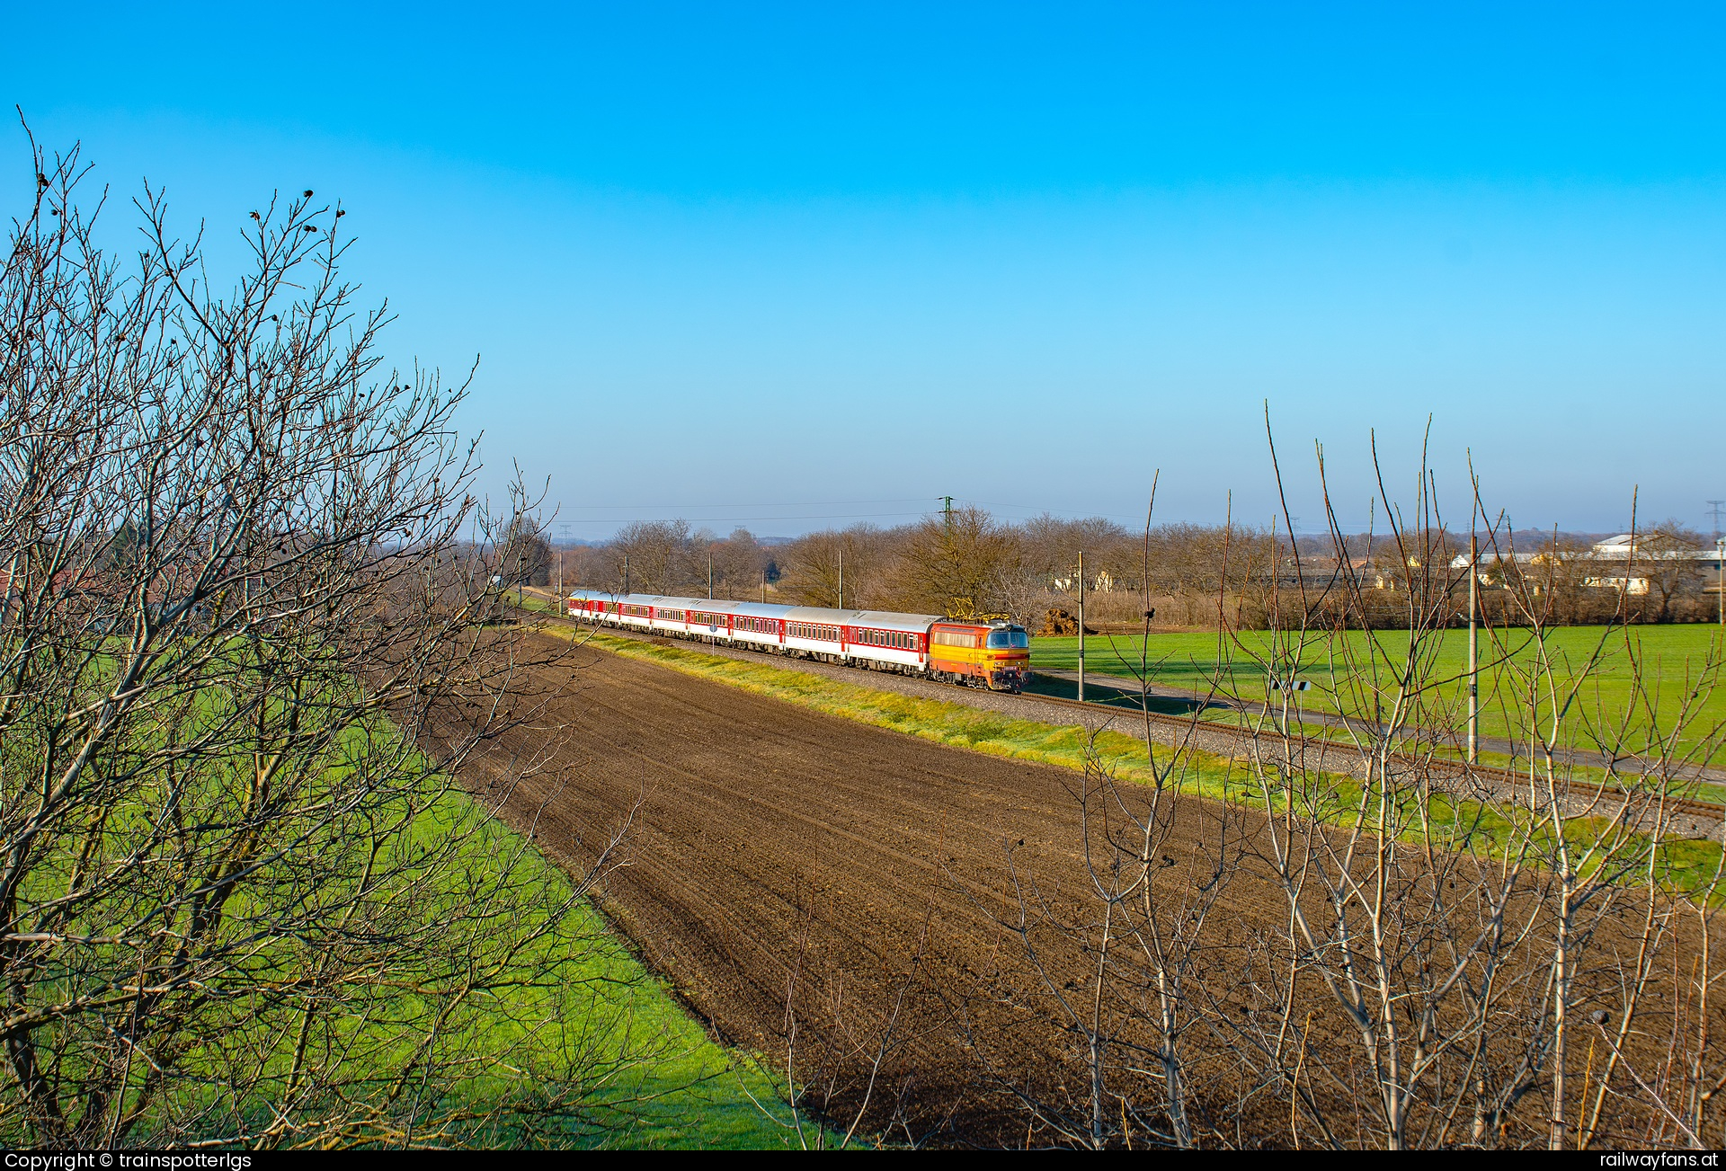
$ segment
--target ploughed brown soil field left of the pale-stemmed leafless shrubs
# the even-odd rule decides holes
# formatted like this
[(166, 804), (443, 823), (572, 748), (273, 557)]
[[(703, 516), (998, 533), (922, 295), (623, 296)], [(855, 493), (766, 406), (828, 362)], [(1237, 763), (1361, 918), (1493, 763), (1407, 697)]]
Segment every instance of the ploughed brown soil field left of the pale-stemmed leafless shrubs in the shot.
[[(725, 1040), (777, 1069), (789, 1054), (815, 1112), (841, 1131), (861, 1109), (860, 1133), (1018, 1145), (1015, 1086), (1084, 1097), (1061, 1085), (1077, 1038), (1003, 928), (1018, 919), (1015, 871), (1056, 916), (1091, 914), (1072, 886), (1079, 774), (590, 648), (537, 683), (566, 688), (549, 726), (502, 736), (494, 761), (563, 736), (568, 769), (521, 781), (511, 821), (580, 866), (633, 809), (608, 912)], [(482, 759), (475, 783), (485, 773)], [(1196, 859), (1220, 812), (1187, 798), (1169, 852)], [(1232, 876), (1234, 938), (1286, 917), (1267, 876)], [(1046, 942), (1055, 981), (1082, 980), (1086, 957)]]

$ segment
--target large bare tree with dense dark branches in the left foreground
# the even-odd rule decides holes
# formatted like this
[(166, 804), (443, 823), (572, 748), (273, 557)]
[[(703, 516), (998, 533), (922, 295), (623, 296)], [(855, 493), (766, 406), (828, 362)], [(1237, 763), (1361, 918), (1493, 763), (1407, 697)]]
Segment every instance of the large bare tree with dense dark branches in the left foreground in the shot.
[[(592, 873), (530, 881), (450, 780), (537, 711), (532, 648), (482, 626), (480, 550), (530, 502), (478, 510), (463, 391), (380, 364), (340, 209), (261, 207), (217, 295), (161, 193), (128, 269), (78, 152), (33, 155), (0, 272), (0, 1142), (580, 1126), (628, 1054), (547, 997)], [(488, 767), (502, 800), (542, 762)]]

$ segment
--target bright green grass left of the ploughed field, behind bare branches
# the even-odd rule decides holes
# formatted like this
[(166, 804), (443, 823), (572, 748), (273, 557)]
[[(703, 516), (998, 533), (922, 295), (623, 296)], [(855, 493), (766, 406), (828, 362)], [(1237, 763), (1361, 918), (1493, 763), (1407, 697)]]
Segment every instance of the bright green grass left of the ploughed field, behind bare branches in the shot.
[[(221, 698), (200, 700), (200, 709), (223, 714)], [(369, 745), (394, 735), (387, 724), (369, 731), (347, 728), (337, 736), (337, 750), (323, 757), (323, 774), (338, 783)], [(413, 766), (406, 771), (413, 773)], [(226, 792), (217, 783), (185, 797), (198, 811), (188, 819), (217, 819), (216, 811), (224, 805), (211, 793)], [(107, 814), (112, 833), (124, 838), (131, 821), (159, 816), (166, 802), (157, 797), (148, 786), (129, 793)], [(321, 809), (314, 800), (311, 807)], [(338, 995), (319, 1002), (319, 1024), (307, 1050), (311, 1064), (359, 1104), (356, 1112), (364, 1114), (373, 1095), (380, 1099), (378, 1109), (385, 1109), (381, 1099), (392, 1078), (421, 1061), (416, 1047), (423, 1043), (428, 1014), (435, 1005), (459, 1000), (463, 1007), (447, 1014), (447, 1031), (435, 1047), (450, 1073), (440, 1081), (440, 1097), (428, 1100), (423, 1112), (444, 1119), (435, 1123), (442, 1130), (425, 1138), (433, 1145), (784, 1149), (823, 1138), (808, 1121), (799, 1135), (772, 1062), (716, 1043), (594, 905), (575, 897), (570, 876), (466, 790), (425, 766), (418, 780), (400, 781), (368, 817), (330, 823), (352, 830), (402, 819), (397, 823), (402, 831), (378, 838), (369, 855), (376, 867), (366, 866), (366, 881), (378, 885), (366, 899), (354, 899), (359, 907), (354, 935), (362, 940), (356, 947), (366, 947), (371, 931), (411, 935), (414, 924), (435, 921), (452, 940), (456, 971), (452, 976), (437, 955), (407, 957), (399, 966), (394, 957), (380, 955), (371, 964), (388, 966), (387, 978), (361, 981), (362, 993), (352, 1004)], [(307, 849), (318, 849), (316, 838), (311, 842)], [(342, 899), (349, 892), (343, 883), (352, 871), (343, 869), (342, 859), (331, 861), (342, 847), (335, 842), (319, 850), (319, 899)], [(359, 852), (366, 852), (364, 843)], [(492, 883), (502, 874), (509, 874), (507, 892), (499, 893)], [(40, 876), (45, 893), (26, 886), (26, 897), (52, 897), (57, 878), (59, 871), (47, 867)], [(414, 916), (407, 926), (390, 917), (397, 911), (392, 892)], [(307, 949), (293, 933), (259, 926), (287, 914), (271, 902), (276, 897), (280, 886), (262, 880), (226, 902), (226, 930), (238, 943), (228, 936), (214, 942), (217, 949), (235, 949), (226, 969), (212, 969), (221, 973), (219, 980), (274, 988), (306, 980), (323, 962), (326, 952)], [(502, 914), (507, 928), (495, 921)], [(342, 919), (343, 928), (349, 923)], [(464, 950), (471, 938), (482, 942), (480, 950)], [(105, 954), (112, 945), (91, 950)], [(482, 992), (452, 995), (463, 980), (478, 981)], [(47, 995), (64, 995), (52, 980), (43, 986)], [(223, 1026), (200, 1036), (181, 1057), (176, 1074), (202, 1088), (185, 1092), (176, 1105), (202, 1102), (217, 1119), (230, 1112), (269, 1119), (278, 1112), (274, 1095), (290, 1081), (287, 1068), (297, 1061), (292, 1024), (302, 1018), (295, 1002), (257, 1000), (235, 1016), (217, 1014)], [(230, 1061), (255, 1080), (236, 1088), (223, 1076)], [(0, 1145), (29, 1142), (21, 1119), (19, 1111), (0, 1109)], [(131, 1140), (150, 1145), (159, 1128), (161, 1119), (145, 1112)], [(176, 1140), (185, 1142), (185, 1135)]]

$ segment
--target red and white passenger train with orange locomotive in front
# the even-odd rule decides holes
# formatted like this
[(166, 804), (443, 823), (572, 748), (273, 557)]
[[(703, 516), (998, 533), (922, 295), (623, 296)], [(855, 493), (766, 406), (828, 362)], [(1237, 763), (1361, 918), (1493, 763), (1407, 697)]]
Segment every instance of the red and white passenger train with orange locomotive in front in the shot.
[(749, 647), (796, 659), (894, 671), (942, 683), (1024, 690), (1030, 635), (1003, 619), (835, 611), (816, 605), (715, 602), (654, 593), (575, 590), (564, 612), (578, 621)]

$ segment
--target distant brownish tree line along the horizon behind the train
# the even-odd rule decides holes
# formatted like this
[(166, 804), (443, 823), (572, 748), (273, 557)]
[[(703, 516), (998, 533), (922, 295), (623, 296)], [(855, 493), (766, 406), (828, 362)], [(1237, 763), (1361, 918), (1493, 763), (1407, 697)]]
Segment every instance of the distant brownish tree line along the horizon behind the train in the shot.
[[(1010, 616), (1034, 629), (1075, 609), (1084, 555), (1087, 621), (1137, 626), (1146, 597), (1158, 628), (1219, 624), (1262, 629), (1276, 609), (1317, 605), (1315, 617), (1345, 626), (1402, 626), (1408, 590), (1431, 588), (1427, 557), (1467, 554), (1469, 533), (1439, 529), (1410, 555), (1383, 533), (1289, 540), (1277, 526), (1160, 523), (1139, 528), (1101, 517), (1044, 512), (1010, 523), (960, 507), (915, 524), (806, 533), (768, 543), (746, 528), (718, 536), (689, 521), (637, 521), (601, 545), (554, 550), (542, 536), (511, 536), (513, 564), (528, 585), (768, 600), (972, 617)], [(1543, 621), (1578, 624), (1624, 612), (1629, 621), (1707, 621), (1712, 585), (1704, 562), (1676, 557), (1705, 547), (1700, 533), (1662, 521), (1636, 536), (1629, 564), (1597, 555), (1590, 538), (1510, 531), (1484, 524), (1481, 605), (1519, 621), (1517, 590), (1541, 598)], [(528, 552), (518, 552), (528, 550)], [(1465, 576), (1464, 576), (1465, 583)], [(1345, 604), (1345, 593), (1358, 597)], [(1460, 607), (1465, 585), (1452, 581)], [(1621, 593), (1626, 597), (1621, 598)]]

